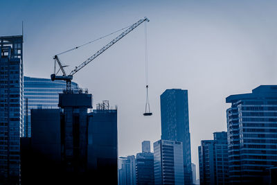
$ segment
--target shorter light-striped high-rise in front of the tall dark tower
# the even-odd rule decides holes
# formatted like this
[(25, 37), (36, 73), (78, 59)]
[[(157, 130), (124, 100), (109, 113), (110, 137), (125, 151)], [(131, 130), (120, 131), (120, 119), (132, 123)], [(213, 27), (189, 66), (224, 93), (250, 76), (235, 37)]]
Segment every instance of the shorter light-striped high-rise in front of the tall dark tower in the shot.
[(154, 143), (154, 184), (184, 185), (183, 146), (180, 141)]

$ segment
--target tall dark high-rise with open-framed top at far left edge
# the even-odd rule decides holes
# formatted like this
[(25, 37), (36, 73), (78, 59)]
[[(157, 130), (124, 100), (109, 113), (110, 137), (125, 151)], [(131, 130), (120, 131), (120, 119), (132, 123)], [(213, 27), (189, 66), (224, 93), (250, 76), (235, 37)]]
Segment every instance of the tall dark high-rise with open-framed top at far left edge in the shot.
[(19, 183), (23, 127), (23, 37), (0, 37), (0, 184)]

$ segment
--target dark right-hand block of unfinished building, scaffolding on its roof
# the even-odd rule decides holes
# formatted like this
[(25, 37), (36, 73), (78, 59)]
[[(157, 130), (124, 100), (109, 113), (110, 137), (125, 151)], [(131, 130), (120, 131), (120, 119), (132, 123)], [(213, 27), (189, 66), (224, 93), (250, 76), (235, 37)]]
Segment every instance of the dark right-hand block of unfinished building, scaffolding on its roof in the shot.
[(109, 102), (105, 100), (88, 117), (89, 178), (93, 177), (100, 184), (118, 184), (117, 109), (109, 107)]

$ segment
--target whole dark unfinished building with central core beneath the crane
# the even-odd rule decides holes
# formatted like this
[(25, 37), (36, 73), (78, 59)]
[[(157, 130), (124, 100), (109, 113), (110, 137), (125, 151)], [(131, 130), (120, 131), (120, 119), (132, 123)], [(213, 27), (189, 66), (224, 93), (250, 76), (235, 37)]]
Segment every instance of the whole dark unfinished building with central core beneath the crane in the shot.
[(87, 113), (91, 101), (74, 89), (59, 94), (61, 109), (31, 109), (21, 184), (117, 184), (117, 111), (105, 101)]

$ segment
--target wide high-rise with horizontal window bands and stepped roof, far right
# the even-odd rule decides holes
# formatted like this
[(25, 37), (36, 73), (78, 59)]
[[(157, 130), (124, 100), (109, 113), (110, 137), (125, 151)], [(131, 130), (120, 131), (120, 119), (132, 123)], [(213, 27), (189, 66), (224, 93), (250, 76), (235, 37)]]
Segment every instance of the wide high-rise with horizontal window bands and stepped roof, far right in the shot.
[(277, 85), (226, 98), (231, 183), (264, 184), (277, 166)]

